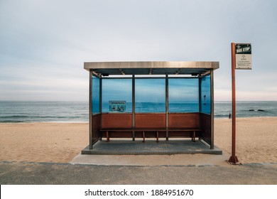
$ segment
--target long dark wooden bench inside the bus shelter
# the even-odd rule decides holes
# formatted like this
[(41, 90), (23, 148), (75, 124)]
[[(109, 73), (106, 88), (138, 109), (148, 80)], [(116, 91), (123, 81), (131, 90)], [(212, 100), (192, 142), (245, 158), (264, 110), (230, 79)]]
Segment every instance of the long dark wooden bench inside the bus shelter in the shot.
[[(137, 129), (121, 129), (121, 128), (104, 128), (104, 129), (100, 129), (99, 130), (101, 133), (102, 133), (102, 136), (103, 136), (103, 133), (105, 134), (106, 138), (107, 138), (107, 142), (109, 141), (111, 135), (110, 133), (111, 132), (132, 132), (132, 137), (133, 137), (133, 140), (135, 140), (135, 133), (136, 132), (142, 132), (142, 138), (143, 138), (143, 142), (145, 142), (145, 139), (146, 139), (146, 133), (148, 132), (155, 132), (156, 133), (156, 141), (158, 142), (158, 139), (159, 139), (159, 132), (168, 132), (168, 136), (166, 136), (166, 140), (168, 140), (169, 138), (169, 132), (182, 132), (182, 131), (190, 131), (190, 137), (192, 139), (192, 141), (195, 142), (195, 136), (196, 136), (196, 133), (195, 132), (200, 132), (202, 131), (202, 129), (155, 129), (155, 128), (137, 128)], [(134, 134), (133, 134), (134, 132)], [(101, 137), (102, 137), (101, 136)], [(180, 136), (183, 136), (182, 134), (180, 134)], [(198, 136), (199, 137), (199, 136)]]

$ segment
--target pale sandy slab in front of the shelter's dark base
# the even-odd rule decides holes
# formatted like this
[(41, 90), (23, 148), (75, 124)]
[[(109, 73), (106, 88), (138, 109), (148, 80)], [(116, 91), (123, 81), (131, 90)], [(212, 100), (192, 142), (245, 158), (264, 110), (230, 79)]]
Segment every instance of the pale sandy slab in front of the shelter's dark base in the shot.
[(84, 155), (79, 154), (71, 164), (103, 166), (230, 166), (229, 154), (174, 155)]

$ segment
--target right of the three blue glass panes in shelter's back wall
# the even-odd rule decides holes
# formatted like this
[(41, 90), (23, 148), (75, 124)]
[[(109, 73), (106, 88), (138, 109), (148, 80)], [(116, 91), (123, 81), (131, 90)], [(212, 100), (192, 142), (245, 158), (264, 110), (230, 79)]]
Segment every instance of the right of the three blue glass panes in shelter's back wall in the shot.
[(198, 79), (168, 79), (169, 112), (199, 112)]

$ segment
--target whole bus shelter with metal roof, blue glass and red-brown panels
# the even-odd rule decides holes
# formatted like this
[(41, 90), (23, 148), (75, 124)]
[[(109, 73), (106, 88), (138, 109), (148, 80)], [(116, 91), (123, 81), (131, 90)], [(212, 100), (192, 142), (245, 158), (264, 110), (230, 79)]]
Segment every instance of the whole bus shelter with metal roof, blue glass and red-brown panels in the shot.
[[(214, 149), (219, 62), (89, 62), (89, 149), (104, 138), (190, 138)], [(103, 141), (103, 140), (102, 140)]]

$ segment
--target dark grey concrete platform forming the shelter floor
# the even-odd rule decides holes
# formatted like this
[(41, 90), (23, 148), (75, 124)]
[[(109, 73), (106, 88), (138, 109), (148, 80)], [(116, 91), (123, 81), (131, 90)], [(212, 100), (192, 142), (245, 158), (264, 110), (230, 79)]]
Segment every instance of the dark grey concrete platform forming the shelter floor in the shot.
[(191, 140), (170, 140), (156, 141), (148, 140), (145, 143), (136, 140), (111, 140), (98, 141), (93, 145), (93, 149), (87, 146), (82, 150), (82, 154), (94, 155), (170, 155), (170, 154), (218, 154), (222, 155), (222, 150), (214, 147), (210, 149), (202, 141), (192, 142)]

